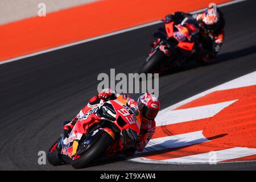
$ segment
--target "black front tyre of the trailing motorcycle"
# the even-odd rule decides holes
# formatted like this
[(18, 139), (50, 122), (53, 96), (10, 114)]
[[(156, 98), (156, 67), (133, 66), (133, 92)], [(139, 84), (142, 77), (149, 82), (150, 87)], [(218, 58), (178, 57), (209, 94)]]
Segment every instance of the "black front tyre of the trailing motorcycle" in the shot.
[(144, 64), (141, 69), (139, 69), (139, 74), (141, 73), (154, 73), (158, 71), (160, 63), (166, 58), (166, 55), (158, 49), (155, 53), (153, 53), (146, 64)]

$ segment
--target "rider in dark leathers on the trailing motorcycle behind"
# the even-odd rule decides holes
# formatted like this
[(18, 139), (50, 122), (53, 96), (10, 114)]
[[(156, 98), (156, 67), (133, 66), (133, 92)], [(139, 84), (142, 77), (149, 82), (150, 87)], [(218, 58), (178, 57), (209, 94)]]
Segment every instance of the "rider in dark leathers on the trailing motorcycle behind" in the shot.
[(197, 20), (200, 27), (200, 42), (203, 47), (197, 49), (194, 59), (200, 63), (210, 63), (214, 61), (218, 51), (224, 42), (225, 19), (221, 10), (217, 8), (214, 12), (213, 8), (208, 8), (203, 13), (187, 14), (183, 12), (175, 12), (164, 18), (165, 23), (172, 21), (182, 21), (186, 17), (192, 17)]

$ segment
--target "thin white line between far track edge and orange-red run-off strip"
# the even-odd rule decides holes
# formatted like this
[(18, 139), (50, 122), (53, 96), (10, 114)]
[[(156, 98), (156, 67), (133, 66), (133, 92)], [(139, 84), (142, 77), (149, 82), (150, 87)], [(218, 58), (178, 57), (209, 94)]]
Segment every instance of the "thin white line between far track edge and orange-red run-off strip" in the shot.
[[(243, 1), (247, 1), (247, 0), (231, 1), (231, 2), (227, 2), (227, 3), (222, 3), (222, 4), (217, 5), (217, 6), (218, 6), (218, 7), (229, 6), (229, 5), (233, 5), (234, 3), (243, 2)], [(192, 11), (191, 13), (192, 13), (192, 14), (200, 13), (200, 12), (203, 11), (203, 10), (204, 10), (204, 9), (200, 9), (200, 10)], [(161, 20), (157, 20), (157, 21), (155, 21), (155, 22), (150, 22), (150, 23), (142, 24), (142, 25), (139, 25), (139, 26), (131, 27), (131, 28), (126, 28), (126, 29), (123, 29), (123, 30), (119, 30), (119, 31), (115, 31), (115, 32), (109, 33), (109, 34), (105, 34), (105, 35), (101, 35), (101, 36), (96, 36), (96, 37), (94, 37), (94, 38), (89, 38), (89, 39), (81, 40), (81, 41), (78, 41), (78, 42), (74, 42), (74, 43), (70, 43), (70, 44), (65, 44), (65, 45), (63, 45), (63, 46), (59, 46), (59, 47), (54, 47), (54, 48), (46, 49), (46, 50), (44, 50), (44, 51), (39, 51), (39, 52), (35, 52), (35, 53), (30, 53), (30, 54), (24, 55), (24, 56), (14, 57), (13, 59), (8, 59), (8, 60), (5, 60), (5, 61), (0, 61), (0, 65), (1, 65), (1, 64), (5, 64), (5, 63), (10, 63), (10, 62), (13, 62), (13, 61), (17, 61), (17, 60), (20, 60), (20, 59), (24, 59), (24, 58), (27, 58), (27, 57), (32, 57), (32, 56), (40, 55), (40, 54), (42, 54), (42, 53), (47, 53), (47, 52), (56, 51), (56, 50), (59, 50), (59, 49), (62, 49), (62, 48), (67, 48), (67, 47), (71, 47), (71, 46), (76, 46), (77, 44), (82, 44), (82, 43), (86, 43), (86, 42), (91, 42), (91, 41), (93, 41), (93, 40), (98, 40), (98, 39), (106, 38), (106, 37), (108, 37), (108, 36), (113, 36), (113, 35), (117, 35), (117, 34), (122, 34), (122, 33), (124, 33), (124, 32), (137, 30), (137, 29), (139, 29), (139, 28), (152, 26), (152, 25), (154, 25), (154, 24), (158, 24), (158, 23), (161, 23), (161, 22), (162, 22)]]

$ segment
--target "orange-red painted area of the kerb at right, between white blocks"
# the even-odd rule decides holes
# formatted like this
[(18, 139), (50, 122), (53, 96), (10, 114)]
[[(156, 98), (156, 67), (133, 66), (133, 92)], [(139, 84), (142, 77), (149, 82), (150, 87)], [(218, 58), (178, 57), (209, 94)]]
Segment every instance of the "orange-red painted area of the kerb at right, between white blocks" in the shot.
[[(216, 91), (180, 106), (178, 109), (216, 104), (230, 100), (238, 101), (221, 110), (220, 113), (212, 118), (160, 126), (157, 127), (154, 135), (154, 138), (159, 138), (167, 137), (167, 135), (203, 130), (205, 138), (211, 140), (210, 142), (143, 155), (148, 159), (164, 160), (233, 147), (256, 148), (256, 85)], [(255, 155), (240, 159), (255, 160)], [(240, 159), (229, 161), (238, 161)]]

